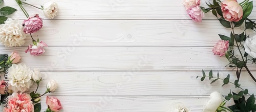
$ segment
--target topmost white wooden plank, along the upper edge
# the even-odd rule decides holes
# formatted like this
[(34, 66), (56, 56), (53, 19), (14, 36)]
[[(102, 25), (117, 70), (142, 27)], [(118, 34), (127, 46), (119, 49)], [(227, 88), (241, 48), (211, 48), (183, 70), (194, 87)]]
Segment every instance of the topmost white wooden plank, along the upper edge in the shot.
[[(27, 2), (40, 7), (50, 0)], [(52, 0), (53, 1), (53, 0)], [(190, 19), (182, 1), (169, 0), (54, 0), (59, 6), (59, 14), (55, 19)], [(201, 1), (202, 6), (206, 6)], [(255, 1), (253, 1), (255, 3)], [(19, 9), (15, 1), (5, 2), (5, 5), (14, 7), (19, 11), (13, 14), (13, 18), (25, 19), (24, 13)], [(39, 13), (47, 19), (42, 11), (25, 6), (29, 14)], [(253, 9), (250, 18), (255, 19), (256, 9)], [(207, 13), (204, 19), (216, 19), (211, 13)], [(192, 23), (192, 21), (191, 21)]]

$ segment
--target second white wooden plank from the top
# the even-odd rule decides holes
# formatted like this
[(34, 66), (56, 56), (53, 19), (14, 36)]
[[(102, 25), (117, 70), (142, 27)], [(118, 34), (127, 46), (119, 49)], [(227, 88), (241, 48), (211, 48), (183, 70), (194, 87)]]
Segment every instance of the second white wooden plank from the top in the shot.
[[(241, 31), (236, 28), (236, 33)], [(33, 37), (49, 46), (214, 46), (218, 34), (230, 32), (217, 20), (44, 20)], [(29, 44), (27, 35), (24, 46)]]

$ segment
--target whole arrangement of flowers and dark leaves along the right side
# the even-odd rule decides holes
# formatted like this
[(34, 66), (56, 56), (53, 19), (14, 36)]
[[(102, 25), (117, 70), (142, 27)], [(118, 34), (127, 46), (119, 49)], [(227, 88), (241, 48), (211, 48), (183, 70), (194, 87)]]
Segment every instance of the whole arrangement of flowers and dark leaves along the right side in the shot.
[[(254, 94), (250, 94), (248, 89), (242, 88), (241, 84), (239, 84), (243, 68), (246, 69), (252, 80), (256, 82), (256, 79), (247, 67), (247, 63), (256, 63), (256, 36), (250, 36), (246, 33), (248, 30), (256, 31), (256, 23), (248, 18), (253, 9), (252, 1), (244, 0), (238, 3), (237, 0), (213, 0), (206, 2), (208, 7), (205, 8), (200, 6), (200, 0), (184, 0), (183, 5), (193, 21), (201, 22), (204, 13), (211, 12), (217, 17), (222, 26), (231, 30), (230, 36), (219, 34), (220, 40), (212, 49), (212, 53), (220, 57), (226, 57), (229, 67), (236, 70), (237, 80), (230, 81), (229, 74), (225, 78), (220, 78), (219, 72), (214, 76), (211, 70), (208, 75), (206, 75), (205, 71), (202, 71), (203, 75), (197, 76), (197, 78), (201, 77), (201, 81), (204, 81), (207, 77), (211, 80), (211, 84), (217, 80), (222, 80), (222, 86), (233, 84), (236, 88), (241, 89), (241, 91), (234, 93), (230, 90), (225, 98), (222, 98), (219, 92), (212, 92), (203, 111), (256, 111)], [(240, 26), (244, 26), (243, 32), (241, 34), (235, 33), (234, 29)], [(245, 95), (249, 96), (247, 100), (245, 100)], [(230, 99), (233, 99), (235, 104), (226, 107), (226, 101)]]

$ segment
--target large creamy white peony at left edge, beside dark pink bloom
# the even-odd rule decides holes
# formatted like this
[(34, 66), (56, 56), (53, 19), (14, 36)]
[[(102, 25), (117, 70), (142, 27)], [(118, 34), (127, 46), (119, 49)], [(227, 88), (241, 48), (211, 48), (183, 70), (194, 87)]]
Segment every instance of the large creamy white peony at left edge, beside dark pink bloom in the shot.
[(22, 46), (25, 43), (26, 34), (19, 19), (8, 18), (5, 24), (0, 25), (0, 39), (6, 47)]

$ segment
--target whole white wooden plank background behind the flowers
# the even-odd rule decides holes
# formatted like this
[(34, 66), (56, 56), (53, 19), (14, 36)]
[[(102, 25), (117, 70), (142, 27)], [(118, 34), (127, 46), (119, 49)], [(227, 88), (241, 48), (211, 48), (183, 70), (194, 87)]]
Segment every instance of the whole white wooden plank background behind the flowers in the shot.
[[(40, 6), (50, 0), (27, 0)], [(202, 111), (213, 91), (223, 96), (239, 91), (233, 85), (196, 79), (201, 70), (220, 71), (221, 77), (236, 76), (224, 57), (214, 56), (212, 47), (218, 34), (229, 35), (211, 14), (194, 23), (182, 1), (176, 0), (56, 0), (58, 16), (47, 19), (42, 11), (25, 6), (29, 14), (39, 13), (44, 27), (34, 33), (49, 47), (41, 56), (24, 51), (31, 44), (28, 35), (23, 47), (0, 46), (1, 54), (17, 51), (22, 62), (43, 71), (46, 83), (59, 83), (55, 93), (65, 112), (75, 111), (167, 111), (170, 104), (182, 102), (191, 111)], [(201, 2), (205, 6), (204, 1)], [(256, 2), (254, 2), (256, 4)], [(12, 18), (26, 17), (14, 0), (5, 5), (18, 9)], [(256, 19), (254, 8), (250, 18)], [(237, 28), (239, 31), (243, 28)], [(252, 71), (255, 65), (249, 65)], [(253, 72), (255, 74), (256, 72)], [(246, 72), (242, 87), (255, 93)], [(35, 89), (32, 86), (31, 91)], [(46, 109), (42, 97), (42, 110)], [(231, 103), (231, 102), (230, 102)]]

